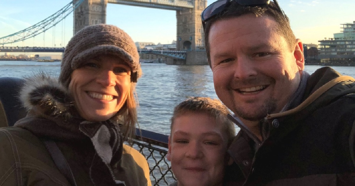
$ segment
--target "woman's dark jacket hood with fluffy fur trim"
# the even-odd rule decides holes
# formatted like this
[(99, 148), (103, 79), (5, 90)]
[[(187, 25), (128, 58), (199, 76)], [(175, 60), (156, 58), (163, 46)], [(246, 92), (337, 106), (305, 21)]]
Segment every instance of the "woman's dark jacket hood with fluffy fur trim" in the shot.
[(79, 123), (84, 119), (74, 117), (75, 109), (69, 92), (57, 79), (44, 72), (24, 79), (20, 100), (28, 113), (15, 126), (38, 137), (60, 140), (86, 137), (79, 129)]

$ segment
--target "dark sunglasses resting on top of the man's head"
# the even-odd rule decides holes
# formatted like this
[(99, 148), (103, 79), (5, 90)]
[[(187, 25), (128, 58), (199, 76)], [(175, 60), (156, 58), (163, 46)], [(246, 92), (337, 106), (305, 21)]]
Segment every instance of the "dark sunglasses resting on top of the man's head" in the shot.
[[(206, 9), (203, 10), (201, 14), (201, 20), (203, 26), (205, 25), (206, 21), (210, 20), (211, 18), (217, 16), (220, 12), (224, 11), (229, 5), (230, 1), (236, 1), (238, 4), (242, 6), (267, 6), (270, 4), (270, 0), (218, 0), (212, 3), (211, 5), (207, 6)], [(276, 5), (277, 10), (284, 16), (286, 16), (282, 9), (280, 8), (277, 0), (273, 0), (274, 4)]]

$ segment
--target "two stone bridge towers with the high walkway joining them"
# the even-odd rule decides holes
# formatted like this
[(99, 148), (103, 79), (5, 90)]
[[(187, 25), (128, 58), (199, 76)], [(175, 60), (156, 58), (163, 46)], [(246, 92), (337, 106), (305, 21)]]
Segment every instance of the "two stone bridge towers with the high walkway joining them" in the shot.
[[(73, 0), (73, 3), (77, 1), (82, 0)], [(74, 32), (88, 25), (106, 23), (108, 3), (175, 10), (176, 50), (204, 49), (204, 43), (200, 39), (204, 37), (201, 13), (207, 6), (207, 0), (84, 0), (74, 12)], [(186, 43), (185, 46), (186, 41), (189, 41), (190, 45)]]

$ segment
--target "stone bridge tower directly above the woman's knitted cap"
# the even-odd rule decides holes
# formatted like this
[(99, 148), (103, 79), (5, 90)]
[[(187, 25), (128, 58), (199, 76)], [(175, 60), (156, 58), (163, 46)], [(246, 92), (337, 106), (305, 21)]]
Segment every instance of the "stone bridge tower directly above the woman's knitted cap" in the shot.
[[(78, 0), (74, 0), (73, 4)], [(88, 25), (106, 23), (107, 0), (85, 0), (74, 12), (74, 34)]]

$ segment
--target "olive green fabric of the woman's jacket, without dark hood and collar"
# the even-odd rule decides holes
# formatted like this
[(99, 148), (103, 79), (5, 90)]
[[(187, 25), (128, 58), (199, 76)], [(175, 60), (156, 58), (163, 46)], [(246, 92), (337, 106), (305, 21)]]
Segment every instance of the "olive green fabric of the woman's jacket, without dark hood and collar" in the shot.
[[(0, 128), (0, 142), (0, 186), (70, 185), (42, 141), (31, 132), (19, 127)], [(128, 145), (123, 145), (117, 171), (126, 185), (151, 185), (147, 161)], [(86, 181), (76, 177), (77, 185)]]

